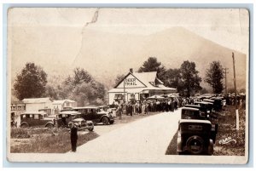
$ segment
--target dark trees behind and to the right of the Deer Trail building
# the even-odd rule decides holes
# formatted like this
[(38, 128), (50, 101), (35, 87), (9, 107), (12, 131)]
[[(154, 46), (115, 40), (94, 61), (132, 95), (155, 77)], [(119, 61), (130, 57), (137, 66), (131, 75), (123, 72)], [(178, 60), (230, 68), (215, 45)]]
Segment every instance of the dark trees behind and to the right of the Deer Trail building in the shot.
[[(177, 88), (177, 92), (183, 96), (190, 96), (199, 91), (203, 94), (208, 93), (206, 88), (201, 88), (202, 81), (212, 87), (214, 94), (220, 94), (224, 90), (223, 67), (219, 61), (212, 61), (204, 79), (199, 77), (199, 71), (196, 70), (195, 62), (189, 60), (183, 61), (179, 68), (166, 69), (157, 58), (149, 57), (137, 72), (147, 71), (157, 71), (157, 77), (160, 78), (166, 87)], [(115, 83), (119, 83), (123, 77), (125, 75), (118, 75)]]

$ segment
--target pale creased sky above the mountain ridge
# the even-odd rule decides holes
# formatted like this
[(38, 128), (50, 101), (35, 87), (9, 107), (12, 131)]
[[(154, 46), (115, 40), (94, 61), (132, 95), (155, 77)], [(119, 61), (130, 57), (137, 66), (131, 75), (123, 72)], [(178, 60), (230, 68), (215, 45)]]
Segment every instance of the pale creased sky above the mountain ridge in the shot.
[[(11, 26), (70, 26), (81, 30), (97, 9), (32, 8), (10, 9)], [(246, 9), (99, 9), (89, 29), (147, 35), (172, 26), (189, 31), (247, 54), (248, 12)]]

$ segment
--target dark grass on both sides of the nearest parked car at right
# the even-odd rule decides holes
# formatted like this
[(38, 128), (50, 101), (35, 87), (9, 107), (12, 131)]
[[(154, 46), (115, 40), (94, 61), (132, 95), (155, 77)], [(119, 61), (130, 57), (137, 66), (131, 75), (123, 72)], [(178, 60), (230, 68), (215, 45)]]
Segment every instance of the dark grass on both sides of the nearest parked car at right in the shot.
[[(236, 130), (236, 112), (235, 106), (226, 106), (224, 111), (218, 112), (218, 120), (212, 123), (218, 123), (218, 134), (213, 146), (213, 156), (244, 156), (245, 155), (245, 129), (246, 129), (246, 111), (239, 110), (240, 129)], [(220, 140), (231, 138), (227, 144), (221, 144)], [(166, 155), (177, 155), (177, 133), (174, 134), (170, 144), (166, 149)]]

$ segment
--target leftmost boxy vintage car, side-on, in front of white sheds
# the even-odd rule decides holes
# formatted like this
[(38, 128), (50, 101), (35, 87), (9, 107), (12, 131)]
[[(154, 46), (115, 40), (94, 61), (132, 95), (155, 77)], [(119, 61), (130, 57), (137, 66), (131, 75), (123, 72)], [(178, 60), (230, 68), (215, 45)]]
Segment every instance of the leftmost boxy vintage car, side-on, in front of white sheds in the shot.
[(55, 118), (47, 117), (45, 112), (40, 111), (26, 111), (20, 114), (20, 128), (32, 126), (54, 128)]

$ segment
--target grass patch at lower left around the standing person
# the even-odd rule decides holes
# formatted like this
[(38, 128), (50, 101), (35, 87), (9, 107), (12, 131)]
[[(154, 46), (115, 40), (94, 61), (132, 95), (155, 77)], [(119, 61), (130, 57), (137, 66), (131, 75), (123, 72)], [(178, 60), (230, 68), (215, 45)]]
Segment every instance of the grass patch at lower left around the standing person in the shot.
[[(12, 130), (13, 131), (13, 130)], [(30, 139), (19, 139), (15, 133), (28, 134)], [(15, 130), (15, 145), (10, 146), (12, 153), (65, 153), (71, 150), (70, 134), (68, 129), (25, 129), (23, 131)], [(96, 139), (98, 134), (89, 132), (84, 134), (79, 132), (78, 146)], [(18, 139), (17, 139), (18, 138)]]

